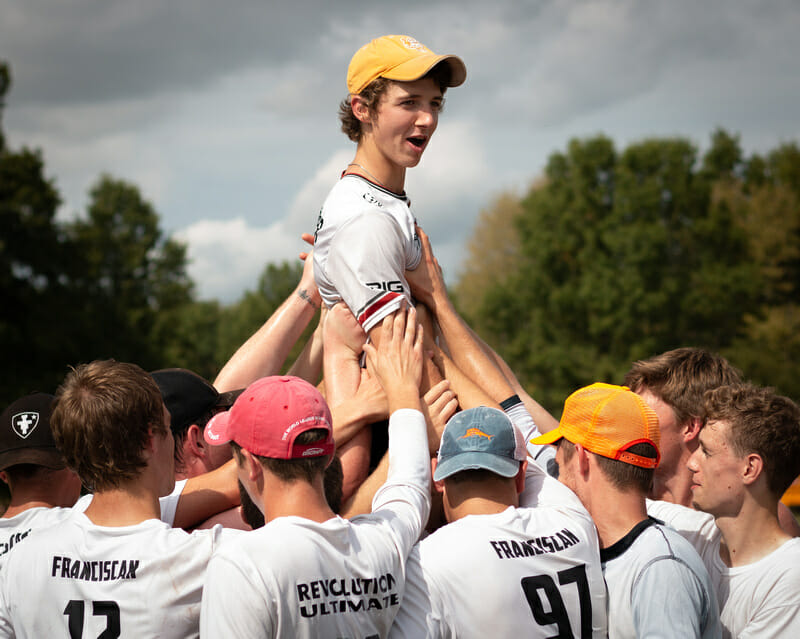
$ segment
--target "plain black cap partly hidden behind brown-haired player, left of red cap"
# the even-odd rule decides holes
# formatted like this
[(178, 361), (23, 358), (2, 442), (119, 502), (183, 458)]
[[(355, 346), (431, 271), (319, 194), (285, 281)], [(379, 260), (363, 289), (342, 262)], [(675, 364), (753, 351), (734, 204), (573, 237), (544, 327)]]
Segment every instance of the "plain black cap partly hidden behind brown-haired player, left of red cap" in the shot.
[(215, 408), (230, 408), (242, 392), (220, 394), (200, 375), (185, 368), (165, 368), (150, 374), (156, 380), (164, 404), (172, 416), (173, 433), (180, 433), (197, 424)]

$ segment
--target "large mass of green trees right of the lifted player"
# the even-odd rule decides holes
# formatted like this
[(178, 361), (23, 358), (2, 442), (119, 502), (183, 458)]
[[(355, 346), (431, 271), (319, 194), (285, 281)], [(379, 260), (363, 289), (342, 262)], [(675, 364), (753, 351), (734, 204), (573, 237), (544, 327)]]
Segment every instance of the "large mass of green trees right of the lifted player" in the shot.
[(455, 286), (475, 330), (551, 411), (679, 346), (800, 399), (800, 148), (746, 157), (718, 129), (553, 153), (479, 219)]

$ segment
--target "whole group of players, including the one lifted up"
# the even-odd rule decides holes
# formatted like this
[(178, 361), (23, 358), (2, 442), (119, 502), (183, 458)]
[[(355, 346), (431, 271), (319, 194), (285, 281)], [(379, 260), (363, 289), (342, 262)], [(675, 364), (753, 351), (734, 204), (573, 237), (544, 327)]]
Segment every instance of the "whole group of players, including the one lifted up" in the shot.
[(0, 637), (800, 636), (794, 402), (687, 347), (556, 420), (413, 217), (374, 214), (410, 215), (383, 169), (414, 165), (464, 77), (405, 36), (354, 56), (352, 172), (213, 384), (94, 361), (6, 408)]

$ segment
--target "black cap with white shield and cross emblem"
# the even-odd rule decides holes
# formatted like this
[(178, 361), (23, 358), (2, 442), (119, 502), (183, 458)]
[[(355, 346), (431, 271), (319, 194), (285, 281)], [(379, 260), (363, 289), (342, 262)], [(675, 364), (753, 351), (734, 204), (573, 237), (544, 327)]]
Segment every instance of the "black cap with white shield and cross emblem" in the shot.
[(66, 466), (50, 430), (53, 396), (21, 397), (0, 418), (0, 470), (15, 464), (36, 464), (60, 470)]

